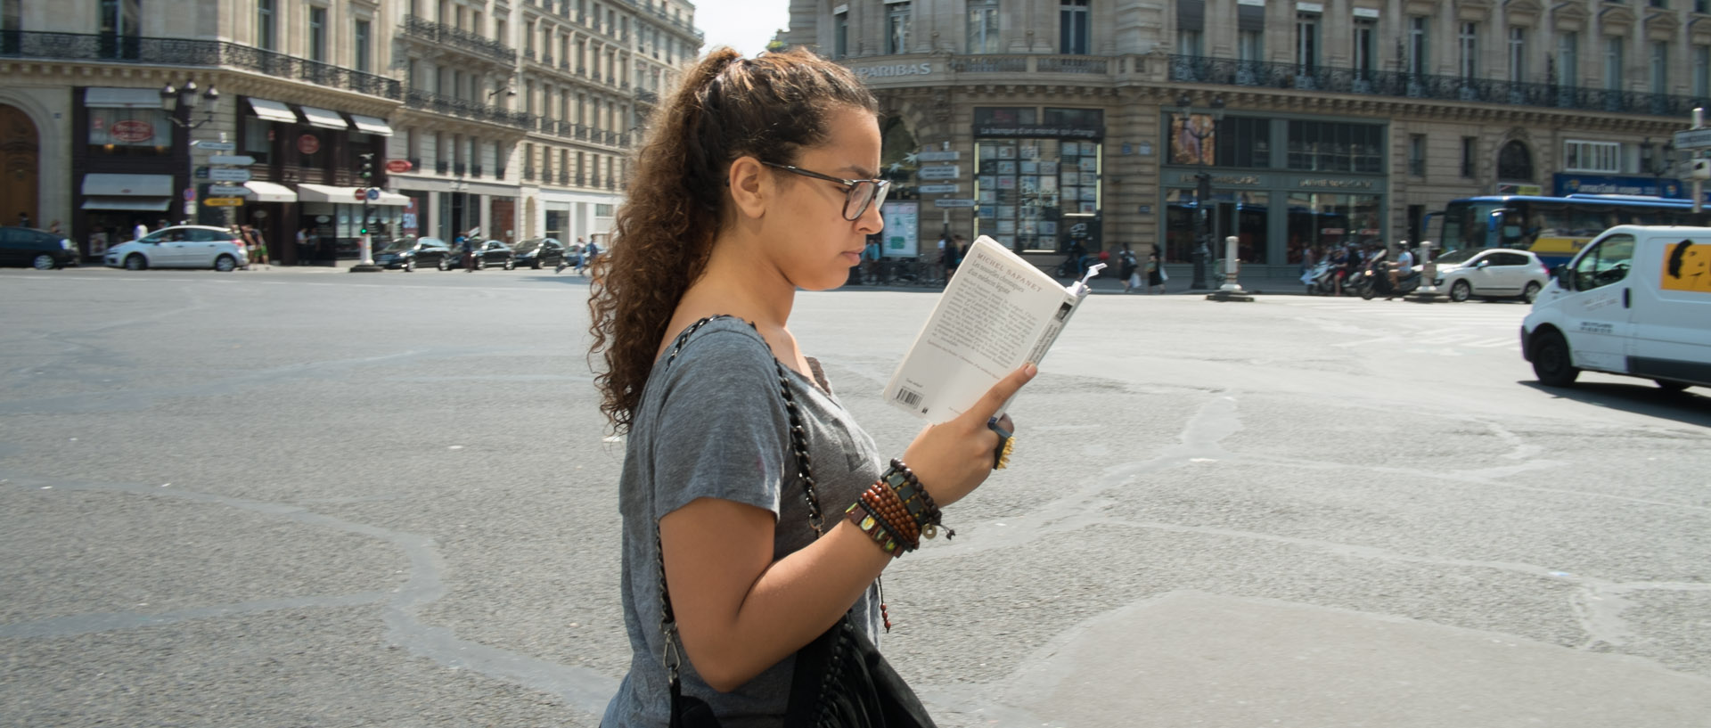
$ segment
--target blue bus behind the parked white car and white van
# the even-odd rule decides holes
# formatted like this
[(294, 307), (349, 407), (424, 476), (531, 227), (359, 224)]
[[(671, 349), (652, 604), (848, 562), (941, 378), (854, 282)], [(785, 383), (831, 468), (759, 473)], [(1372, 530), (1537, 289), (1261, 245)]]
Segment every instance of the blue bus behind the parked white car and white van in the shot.
[(1643, 195), (1490, 195), (1451, 200), (1442, 214), (1441, 251), (1466, 248), (1530, 250), (1557, 267), (1615, 226), (1704, 226), (1690, 200)]

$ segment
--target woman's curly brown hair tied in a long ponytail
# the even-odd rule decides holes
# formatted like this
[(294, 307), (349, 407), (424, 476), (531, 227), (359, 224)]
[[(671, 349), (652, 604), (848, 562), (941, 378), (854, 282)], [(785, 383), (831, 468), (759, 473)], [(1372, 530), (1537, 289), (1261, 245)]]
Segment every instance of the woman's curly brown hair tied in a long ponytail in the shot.
[(849, 68), (806, 50), (743, 58), (719, 48), (655, 111), (589, 297), (589, 354), (606, 359), (594, 381), (614, 431), (630, 429), (666, 325), (707, 268), (731, 162), (794, 162), (826, 142), (837, 108), (878, 113), (879, 104)]

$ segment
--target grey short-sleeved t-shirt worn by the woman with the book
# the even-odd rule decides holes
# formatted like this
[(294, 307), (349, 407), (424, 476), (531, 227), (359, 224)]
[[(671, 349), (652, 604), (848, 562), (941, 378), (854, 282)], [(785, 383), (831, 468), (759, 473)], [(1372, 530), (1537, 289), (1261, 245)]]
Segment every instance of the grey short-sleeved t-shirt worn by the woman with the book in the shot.
[[(669, 364), (654, 366), (630, 426), (619, 480), (623, 513), (623, 598), (630, 673), (606, 706), (602, 728), (666, 726), (671, 684), (662, 658), (659, 520), (700, 497), (719, 497), (777, 516), (773, 559), (814, 540), (808, 501), (790, 455), (790, 415), (767, 342), (743, 320), (717, 318), (696, 330)], [(814, 379), (785, 367), (808, 431), (826, 530), (879, 478), (873, 437), (832, 395), (820, 364)], [(878, 644), (874, 588), (856, 602), (857, 627)], [(727, 728), (779, 726), (790, 692), (794, 658), (785, 658), (732, 692), (717, 692), (683, 660), (683, 692), (707, 701)]]

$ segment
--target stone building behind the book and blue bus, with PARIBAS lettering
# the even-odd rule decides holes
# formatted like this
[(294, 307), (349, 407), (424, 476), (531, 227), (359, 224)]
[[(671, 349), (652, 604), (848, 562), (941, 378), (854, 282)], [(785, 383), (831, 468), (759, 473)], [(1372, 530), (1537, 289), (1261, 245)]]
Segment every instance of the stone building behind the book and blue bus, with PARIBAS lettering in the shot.
[(1205, 215), (1294, 270), (1430, 239), (1459, 197), (1682, 197), (1668, 140), (1711, 96), (1706, 5), (794, 0), (780, 39), (878, 92), (895, 255), (948, 229), (1040, 265), (1073, 243), (1182, 263)]

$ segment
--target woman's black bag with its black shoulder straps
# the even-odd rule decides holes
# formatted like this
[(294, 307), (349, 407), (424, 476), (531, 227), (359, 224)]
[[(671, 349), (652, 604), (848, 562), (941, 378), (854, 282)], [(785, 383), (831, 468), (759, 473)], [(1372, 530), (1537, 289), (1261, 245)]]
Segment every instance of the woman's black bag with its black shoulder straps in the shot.
[[(669, 366), (683, 343), (696, 328), (719, 316), (708, 316), (686, 328), (672, 343)], [(796, 410), (784, 364), (773, 359), (779, 371), (779, 388), (784, 407), (790, 414), (790, 449), (796, 456), (797, 477), (802, 478), (802, 497), (808, 499), (808, 523), (816, 537), (825, 535), (820, 496), (814, 494), (814, 477), (808, 463), (808, 432), (802, 415)], [(659, 528), (654, 530), (659, 542)], [(671, 593), (666, 590), (666, 555), (660, 550), (659, 588), (662, 598), (660, 629), (666, 632), (666, 668), (671, 673), (671, 728), (719, 728), (712, 707), (695, 696), (683, 694), (678, 678), (678, 624), (671, 614)], [(790, 673), (790, 699), (785, 707), (787, 728), (936, 728), (915, 690), (885, 661), (849, 612), (796, 653)]]

